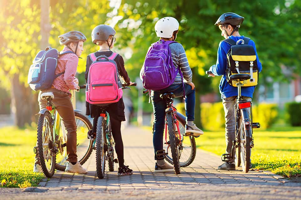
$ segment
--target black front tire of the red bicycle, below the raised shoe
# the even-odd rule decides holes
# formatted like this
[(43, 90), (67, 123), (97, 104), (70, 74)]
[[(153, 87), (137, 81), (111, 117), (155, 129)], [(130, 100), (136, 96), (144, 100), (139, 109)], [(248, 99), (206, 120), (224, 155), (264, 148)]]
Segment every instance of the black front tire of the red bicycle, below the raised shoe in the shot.
[[(190, 148), (191, 148), (191, 151), (190, 151), (190, 154), (189, 154), (189, 156), (188, 156), (188, 159), (183, 160), (183, 162), (180, 161), (181, 158), (182, 158), (182, 156), (181, 156), (180, 159), (179, 159), (180, 167), (187, 167), (187, 166), (189, 166), (189, 165), (194, 161), (194, 159), (195, 159), (195, 155), (196, 155), (195, 138), (194, 138), (193, 136), (185, 136), (185, 124), (182, 123), (182, 122), (179, 121), (179, 120), (178, 120), (178, 122), (179, 122), (179, 128), (180, 128), (180, 131), (181, 131), (181, 126), (183, 127), (183, 128), (182, 128), (182, 131), (183, 131), (184, 133), (181, 133), (181, 136), (183, 137), (183, 141), (184, 141), (184, 137), (189, 137), (189, 142), (190, 142)], [(184, 147), (184, 148), (185, 148), (185, 147)], [(166, 152), (168, 152), (168, 149), (169, 149), (169, 146), (167, 146)], [(180, 150), (179, 150), (179, 151), (180, 151)], [(182, 153), (181, 153), (181, 155), (182, 155)], [(172, 164), (172, 165), (174, 164), (174, 163), (173, 163), (173, 160), (172, 160), (168, 155), (166, 156), (165, 160), (167, 160), (167, 162), (169, 162), (169, 163)]]

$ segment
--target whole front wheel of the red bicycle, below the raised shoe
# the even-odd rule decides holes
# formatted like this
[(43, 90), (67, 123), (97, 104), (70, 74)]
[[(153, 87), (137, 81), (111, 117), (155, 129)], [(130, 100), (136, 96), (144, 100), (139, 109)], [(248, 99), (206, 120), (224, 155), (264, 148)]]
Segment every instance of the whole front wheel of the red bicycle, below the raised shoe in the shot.
[[(195, 145), (195, 138), (193, 136), (185, 136), (185, 124), (179, 122), (179, 132), (181, 134), (181, 143), (179, 148), (179, 162), (180, 162), (180, 167), (187, 167), (190, 165), (194, 159), (195, 159), (195, 154), (196, 154), (196, 145)], [(177, 130), (177, 128), (176, 128)], [(178, 131), (178, 130), (177, 130)], [(173, 159), (170, 156), (170, 145), (166, 145), (166, 152), (169, 153), (166, 155), (165, 160), (167, 160), (170, 164), (173, 163)]]

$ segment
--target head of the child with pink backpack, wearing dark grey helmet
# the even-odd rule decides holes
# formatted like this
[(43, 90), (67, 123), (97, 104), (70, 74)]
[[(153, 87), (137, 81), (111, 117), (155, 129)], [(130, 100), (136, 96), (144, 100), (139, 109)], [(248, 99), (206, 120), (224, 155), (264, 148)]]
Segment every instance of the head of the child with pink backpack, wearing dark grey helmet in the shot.
[(92, 42), (98, 46), (104, 46), (108, 49), (114, 47), (114, 42), (116, 41), (116, 38), (114, 35), (116, 34), (116, 31), (114, 28), (101, 24), (96, 26), (92, 31)]

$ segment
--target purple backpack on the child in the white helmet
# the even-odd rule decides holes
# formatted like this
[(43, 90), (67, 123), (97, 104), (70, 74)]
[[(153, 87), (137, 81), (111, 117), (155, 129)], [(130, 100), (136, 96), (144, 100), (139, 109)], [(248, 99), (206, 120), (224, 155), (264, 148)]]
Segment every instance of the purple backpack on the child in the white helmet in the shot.
[(162, 90), (174, 83), (178, 71), (183, 82), (183, 74), (174, 67), (169, 44), (174, 41), (159, 40), (152, 44), (144, 61), (142, 73), (143, 87), (148, 90)]

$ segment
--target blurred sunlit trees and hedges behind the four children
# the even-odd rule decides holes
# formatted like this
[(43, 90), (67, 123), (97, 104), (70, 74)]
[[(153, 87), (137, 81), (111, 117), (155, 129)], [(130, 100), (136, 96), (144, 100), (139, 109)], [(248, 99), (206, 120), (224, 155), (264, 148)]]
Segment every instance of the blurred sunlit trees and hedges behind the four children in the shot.
[[(158, 40), (154, 25), (158, 19), (172, 16), (180, 22), (177, 41), (183, 44), (193, 71), (197, 92), (195, 122), (205, 129), (224, 127), (218, 89), (220, 77), (205, 75), (216, 63), (217, 48), (224, 39), (214, 26), (224, 12), (245, 17), (239, 32), (254, 40), (263, 66), (253, 98), (254, 121), (262, 123), (262, 128), (275, 124), (301, 125), (301, 116), (298, 117), (301, 115), (298, 103), (301, 101), (298, 96), (301, 95), (301, 1), (1, 0), (0, 3), (0, 126), (34, 126), (34, 114), (39, 110), (38, 93), (27, 84), (28, 70), (35, 55), (45, 47), (62, 50), (59, 35), (71, 30), (86, 35), (76, 75), (80, 84), (84, 84), (86, 56), (97, 51), (91, 42), (91, 31), (99, 24), (114, 27), (117, 41), (112, 50), (123, 56), (131, 81), (139, 83), (147, 49)], [(142, 89), (125, 92), (125, 112), (132, 123), (149, 125), (152, 105), (148, 96), (142, 95)], [(84, 113), (84, 91), (77, 93), (76, 99), (77, 109)], [(182, 102), (182, 99), (177, 101), (183, 113)]]

